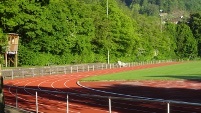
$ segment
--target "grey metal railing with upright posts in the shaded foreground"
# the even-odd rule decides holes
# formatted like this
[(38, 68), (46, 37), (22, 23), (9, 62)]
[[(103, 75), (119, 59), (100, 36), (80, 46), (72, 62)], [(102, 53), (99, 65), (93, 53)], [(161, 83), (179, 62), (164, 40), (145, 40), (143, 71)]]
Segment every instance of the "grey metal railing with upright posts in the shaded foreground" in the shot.
[[(10, 87), (14, 87), (14, 86), (10, 86)], [(32, 89), (32, 88), (24, 88), (24, 87), (16, 87), (16, 94), (15, 94), (15, 107), (16, 108), (19, 108), (18, 106), (18, 90), (32, 90), (35, 92), (35, 112), (38, 113), (39, 112), (39, 102), (38, 102), (38, 97), (40, 95), (38, 95), (38, 92), (43, 92), (43, 93), (50, 93), (50, 94), (62, 94), (62, 95), (65, 95), (65, 99), (66, 99), (66, 113), (69, 113), (69, 96), (79, 96), (79, 97), (89, 97), (89, 98), (99, 98), (99, 99), (105, 99), (105, 100), (108, 100), (108, 112), (109, 113), (112, 113), (112, 101), (128, 101), (129, 104), (132, 104), (132, 102), (143, 102), (143, 104), (145, 103), (157, 103), (158, 105), (160, 105), (161, 103), (163, 103), (163, 105), (166, 105), (166, 108), (165, 107), (162, 107), (164, 109), (166, 109), (166, 113), (170, 113), (171, 111), (171, 107), (170, 105), (187, 105), (188, 107), (185, 108), (183, 107), (182, 109), (180, 109), (181, 113), (185, 113), (186, 109), (189, 110), (189, 109), (193, 109), (189, 106), (195, 106), (194, 108), (197, 109), (197, 111), (190, 111), (190, 112), (193, 112), (193, 113), (198, 113), (199, 112), (199, 108), (201, 108), (201, 103), (189, 103), (189, 102), (183, 102), (183, 101), (173, 101), (173, 100), (164, 100), (164, 99), (155, 99), (155, 98), (146, 98), (146, 97), (135, 97), (135, 98), (126, 98), (126, 97), (111, 97), (111, 96), (100, 96), (100, 95), (92, 95), (92, 94), (80, 94), (80, 93), (72, 93), (72, 92), (58, 92), (58, 91), (51, 91), (51, 90), (38, 90), (38, 89)], [(127, 102), (127, 103), (128, 103)], [(135, 103), (136, 104), (136, 103)], [(128, 107), (128, 106), (127, 106)], [(160, 106), (161, 107), (161, 106)], [(154, 108), (156, 109), (156, 108)], [(146, 111), (146, 110), (145, 110)], [(164, 111), (164, 110), (163, 110)], [(173, 110), (172, 110), (173, 111)], [(176, 110), (175, 110), (176, 111)], [(147, 112), (147, 111), (146, 111)], [(148, 112), (154, 112), (154, 113), (157, 113), (156, 111), (148, 111)], [(161, 112), (161, 111), (160, 111)], [(177, 111), (177, 113), (180, 113)]]

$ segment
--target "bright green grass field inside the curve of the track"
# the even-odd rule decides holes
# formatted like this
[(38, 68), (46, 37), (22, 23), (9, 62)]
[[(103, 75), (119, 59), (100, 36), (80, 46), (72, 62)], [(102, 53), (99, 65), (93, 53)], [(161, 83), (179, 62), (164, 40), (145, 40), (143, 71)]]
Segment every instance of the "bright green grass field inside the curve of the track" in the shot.
[(81, 81), (102, 80), (193, 80), (201, 81), (201, 61), (140, 69), (84, 78)]

